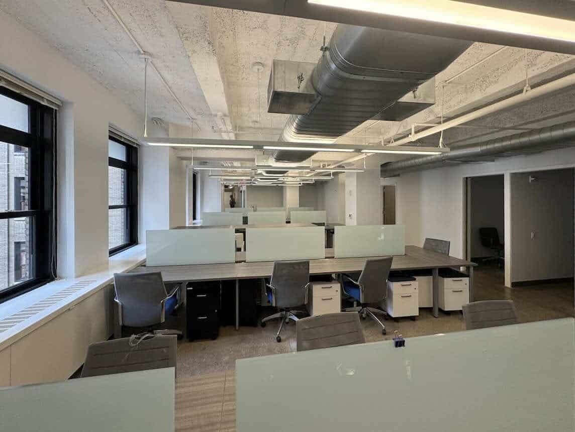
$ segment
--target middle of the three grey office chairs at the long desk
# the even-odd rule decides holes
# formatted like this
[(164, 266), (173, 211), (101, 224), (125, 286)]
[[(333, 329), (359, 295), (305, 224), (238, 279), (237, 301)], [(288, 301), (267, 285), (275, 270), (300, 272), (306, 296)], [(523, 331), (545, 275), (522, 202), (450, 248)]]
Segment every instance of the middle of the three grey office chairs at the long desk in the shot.
[(292, 310), (292, 307), (302, 306), (308, 298), (309, 287), (309, 261), (277, 261), (271, 273), (270, 283), (266, 284), (267, 299), (272, 306), (279, 308), (277, 314), (270, 315), (262, 319), (262, 327), (270, 319), (281, 319), (278, 333), (275, 340), (281, 342), (279, 335), (282, 331), (283, 323), (290, 319), (297, 321), (296, 314), (302, 311)]

